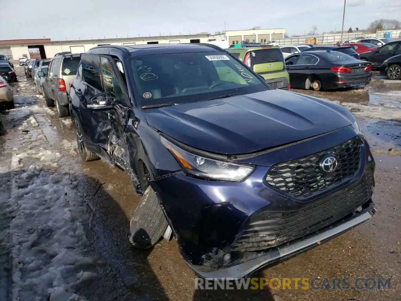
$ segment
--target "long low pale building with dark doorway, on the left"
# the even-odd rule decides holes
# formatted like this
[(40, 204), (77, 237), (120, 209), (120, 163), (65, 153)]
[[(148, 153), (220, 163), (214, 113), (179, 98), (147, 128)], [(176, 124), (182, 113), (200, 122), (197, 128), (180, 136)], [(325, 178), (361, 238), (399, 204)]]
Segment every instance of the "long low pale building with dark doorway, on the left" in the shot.
[(83, 53), (99, 45), (207, 43), (208, 39), (208, 33), (201, 33), (197, 35), (78, 41), (51, 41), (51, 39), (6, 40), (0, 41), (0, 54), (6, 55), (8, 59), (14, 60), (14, 63), (18, 63), (18, 59), (24, 56), (28, 58), (51, 58), (58, 52)]

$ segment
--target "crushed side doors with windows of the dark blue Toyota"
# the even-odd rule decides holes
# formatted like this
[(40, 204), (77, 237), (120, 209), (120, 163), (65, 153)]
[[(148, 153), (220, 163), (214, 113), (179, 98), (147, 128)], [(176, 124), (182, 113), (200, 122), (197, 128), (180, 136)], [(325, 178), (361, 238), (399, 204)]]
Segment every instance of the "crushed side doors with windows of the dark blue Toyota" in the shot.
[(126, 87), (111, 57), (83, 53), (81, 61), (86, 85), (80, 111), (87, 148), (125, 168)]

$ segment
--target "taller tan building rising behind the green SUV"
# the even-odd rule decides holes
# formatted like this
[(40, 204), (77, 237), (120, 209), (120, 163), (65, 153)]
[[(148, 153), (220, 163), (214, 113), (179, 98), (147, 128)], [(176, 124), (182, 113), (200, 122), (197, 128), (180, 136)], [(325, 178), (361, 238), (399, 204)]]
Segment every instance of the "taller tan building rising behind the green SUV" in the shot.
[(261, 29), (260, 27), (254, 27), (248, 30), (226, 31), (225, 35), (229, 44), (232, 45), (241, 43), (241, 41), (250, 43), (275, 41), (277, 39), (283, 39), (285, 33), (285, 28)]

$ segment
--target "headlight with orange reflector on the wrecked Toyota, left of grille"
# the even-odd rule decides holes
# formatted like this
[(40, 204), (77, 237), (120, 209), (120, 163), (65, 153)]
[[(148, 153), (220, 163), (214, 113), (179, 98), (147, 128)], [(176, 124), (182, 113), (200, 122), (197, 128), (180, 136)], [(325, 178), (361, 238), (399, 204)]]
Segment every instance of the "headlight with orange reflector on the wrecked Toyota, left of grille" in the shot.
[(187, 173), (207, 179), (239, 182), (245, 179), (255, 167), (207, 159), (186, 152), (160, 136), (160, 140), (177, 159)]

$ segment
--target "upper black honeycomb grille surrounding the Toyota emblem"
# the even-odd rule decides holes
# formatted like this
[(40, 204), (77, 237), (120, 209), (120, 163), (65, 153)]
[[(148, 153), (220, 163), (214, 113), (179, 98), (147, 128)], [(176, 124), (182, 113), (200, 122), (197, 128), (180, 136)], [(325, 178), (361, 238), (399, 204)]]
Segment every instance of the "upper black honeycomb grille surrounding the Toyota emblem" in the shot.
[[(318, 153), (273, 165), (266, 175), (266, 182), (294, 197), (308, 197), (316, 191), (354, 176), (359, 169), (360, 139), (354, 137)], [(337, 157), (338, 167), (325, 174), (319, 163), (324, 155)]]

